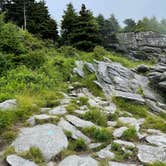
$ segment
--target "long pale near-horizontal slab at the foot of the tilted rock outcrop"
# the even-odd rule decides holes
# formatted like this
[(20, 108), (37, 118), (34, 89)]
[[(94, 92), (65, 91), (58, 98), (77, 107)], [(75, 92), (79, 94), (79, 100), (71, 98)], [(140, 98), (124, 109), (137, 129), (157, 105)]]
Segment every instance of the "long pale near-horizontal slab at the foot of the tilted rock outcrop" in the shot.
[(145, 103), (145, 100), (143, 99), (143, 97), (141, 95), (135, 94), (135, 93), (115, 91), (114, 96), (119, 97), (119, 98), (128, 99), (128, 100), (133, 100), (133, 101), (136, 101), (141, 104)]

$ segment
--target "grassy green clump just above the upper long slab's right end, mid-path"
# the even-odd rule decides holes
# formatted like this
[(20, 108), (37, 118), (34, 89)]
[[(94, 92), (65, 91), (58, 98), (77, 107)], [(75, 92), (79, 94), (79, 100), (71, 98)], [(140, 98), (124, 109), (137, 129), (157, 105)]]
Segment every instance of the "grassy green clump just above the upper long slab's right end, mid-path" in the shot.
[(83, 118), (89, 121), (94, 122), (97, 125), (100, 126), (106, 126), (107, 125), (107, 116), (103, 111), (100, 111), (98, 109), (93, 108), (92, 110), (86, 112), (83, 115)]

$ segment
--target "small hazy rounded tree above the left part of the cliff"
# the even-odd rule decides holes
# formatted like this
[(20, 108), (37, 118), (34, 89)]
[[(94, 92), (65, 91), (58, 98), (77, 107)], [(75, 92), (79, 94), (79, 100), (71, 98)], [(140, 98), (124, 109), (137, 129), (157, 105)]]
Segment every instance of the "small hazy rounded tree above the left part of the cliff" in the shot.
[(128, 18), (124, 20), (124, 23), (126, 24), (123, 29), (124, 32), (133, 32), (135, 30), (136, 22), (133, 19)]

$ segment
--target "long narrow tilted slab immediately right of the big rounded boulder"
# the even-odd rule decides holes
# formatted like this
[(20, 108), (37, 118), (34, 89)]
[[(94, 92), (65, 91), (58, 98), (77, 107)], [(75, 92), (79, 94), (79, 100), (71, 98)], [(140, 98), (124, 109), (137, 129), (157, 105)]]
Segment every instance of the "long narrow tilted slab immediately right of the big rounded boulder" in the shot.
[(60, 122), (58, 123), (58, 126), (60, 126), (63, 130), (70, 131), (72, 133), (73, 139), (82, 138), (86, 143), (91, 142), (91, 140), (86, 135), (84, 135), (75, 126), (73, 126), (68, 121), (64, 120), (63, 118), (61, 118)]

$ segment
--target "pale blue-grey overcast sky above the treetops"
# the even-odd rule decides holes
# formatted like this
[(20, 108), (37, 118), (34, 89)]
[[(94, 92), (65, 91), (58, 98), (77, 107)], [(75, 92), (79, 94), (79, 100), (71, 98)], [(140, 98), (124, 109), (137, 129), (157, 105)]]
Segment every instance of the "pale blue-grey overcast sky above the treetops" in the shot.
[(123, 25), (123, 20), (141, 19), (144, 16), (166, 18), (166, 0), (45, 0), (51, 16), (60, 24), (66, 4), (72, 2), (76, 11), (84, 3), (95, 16), (103, 14), (108, 18), (112, 13)]

